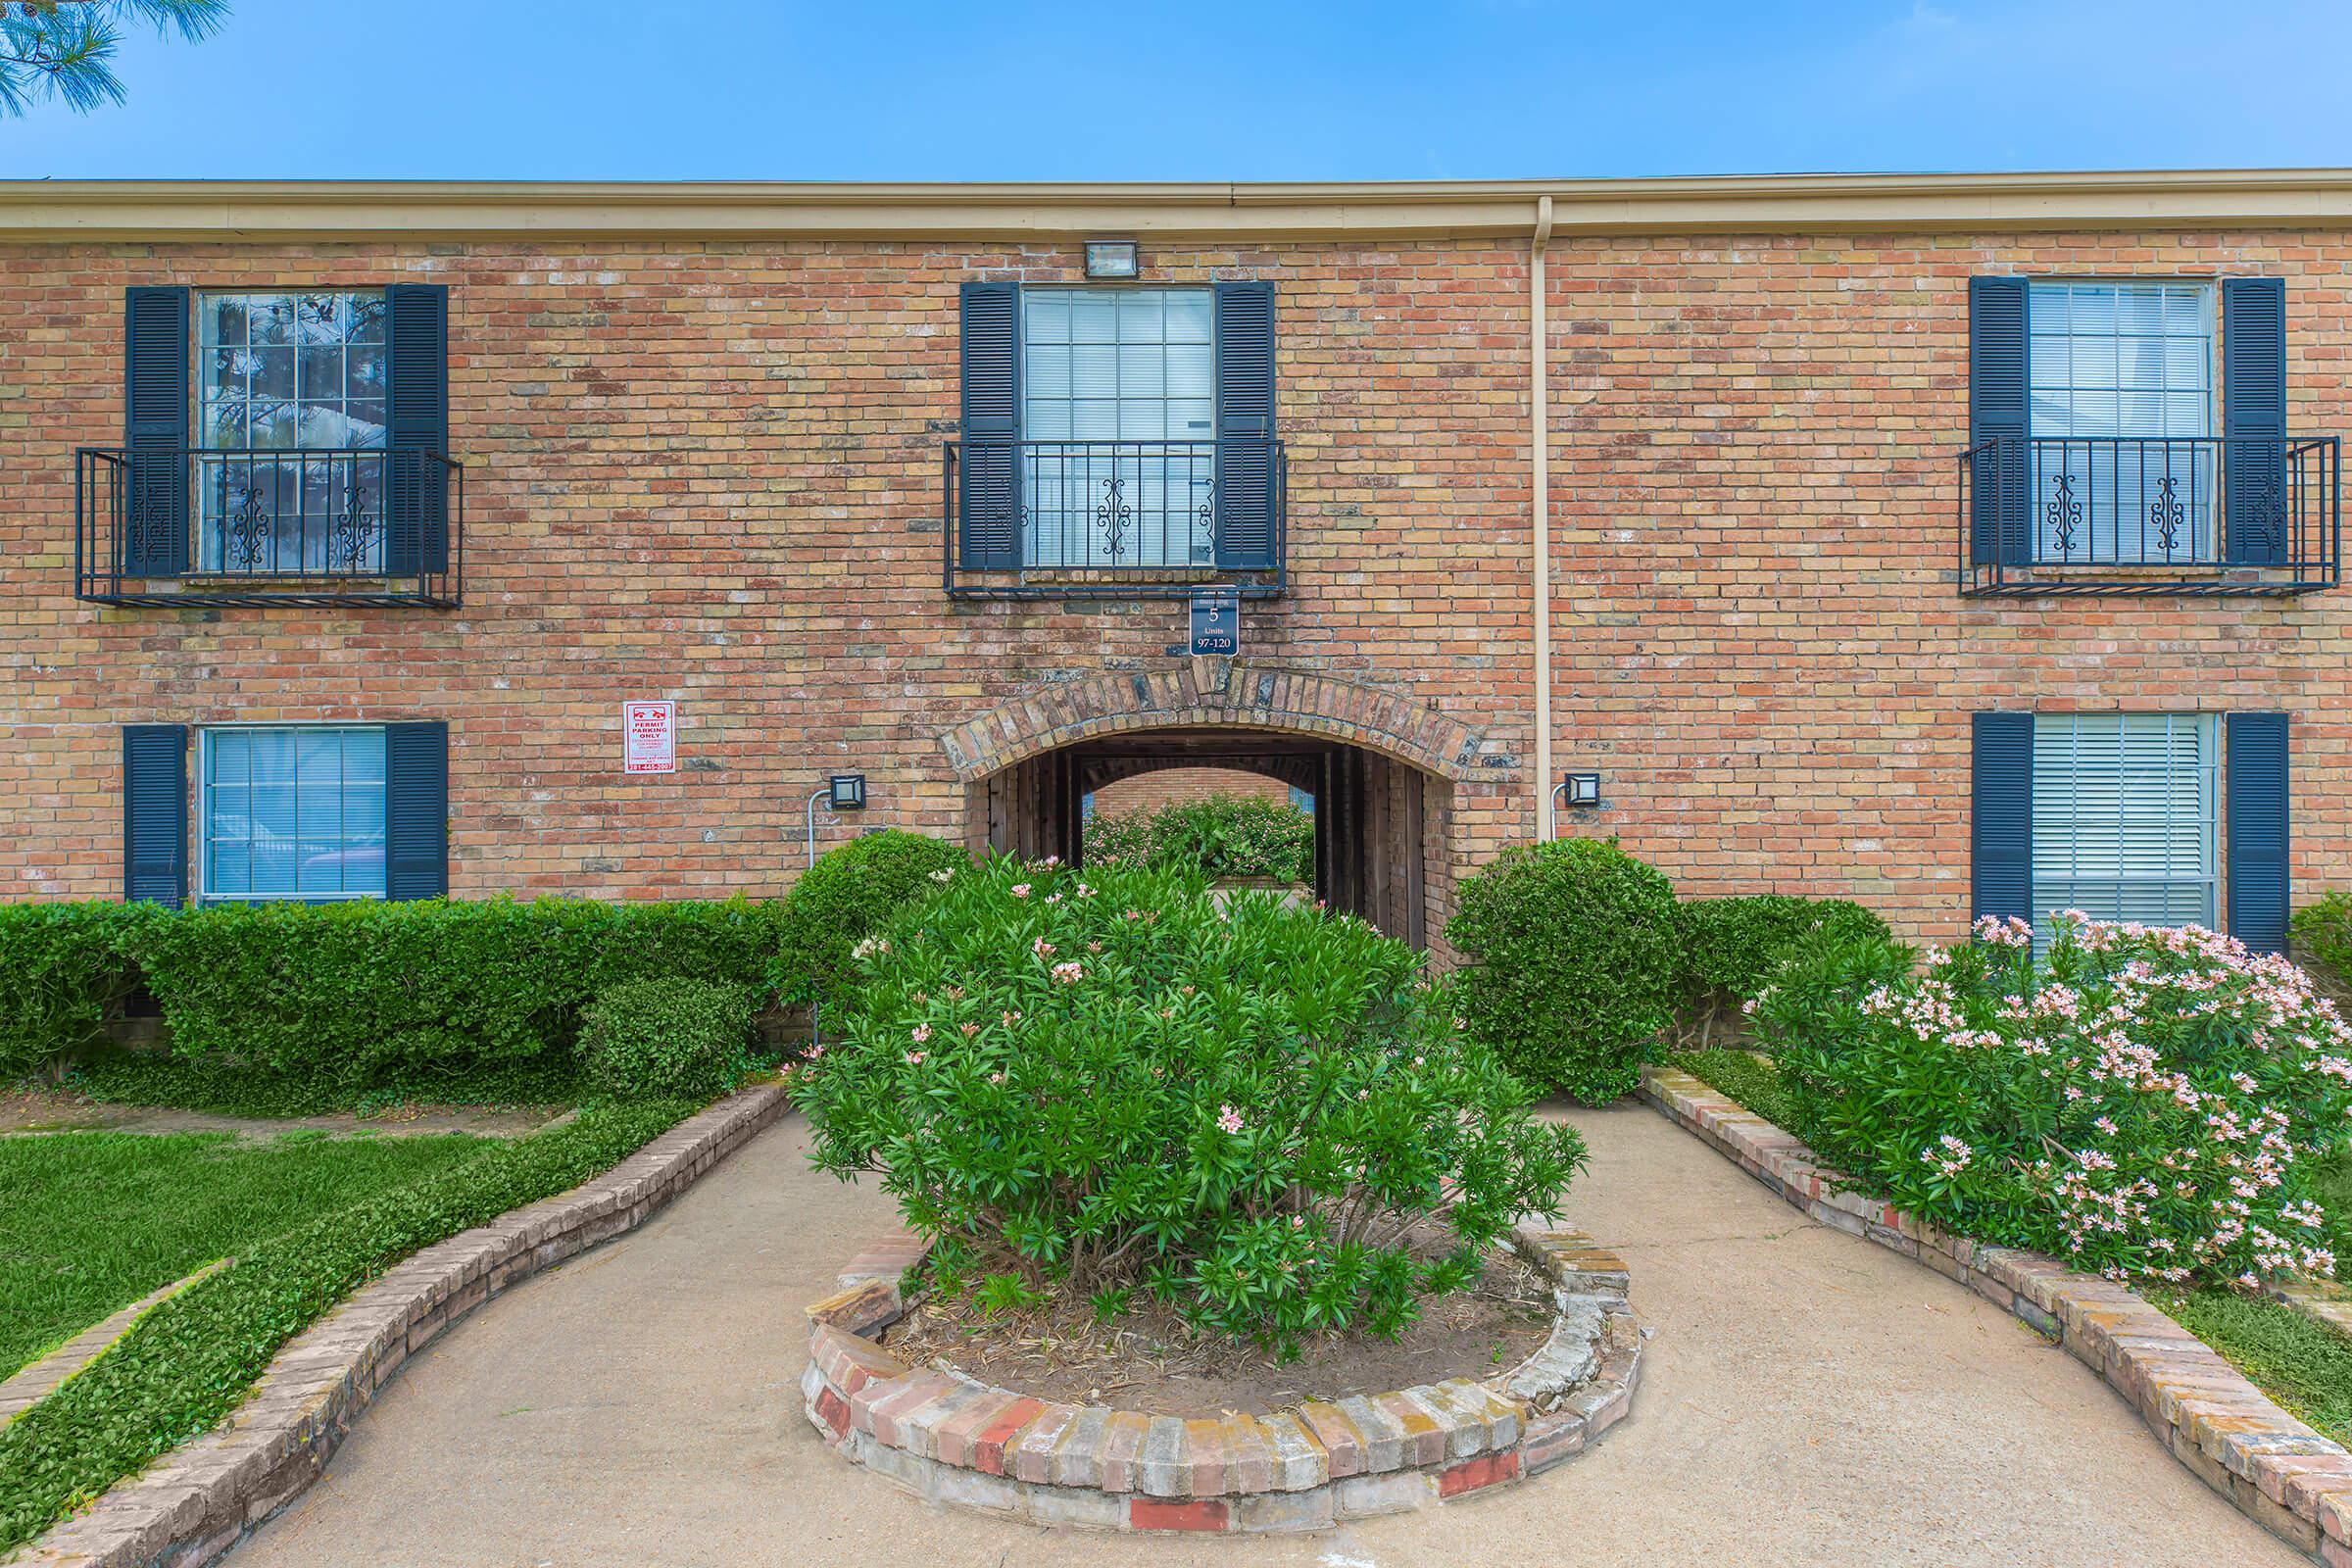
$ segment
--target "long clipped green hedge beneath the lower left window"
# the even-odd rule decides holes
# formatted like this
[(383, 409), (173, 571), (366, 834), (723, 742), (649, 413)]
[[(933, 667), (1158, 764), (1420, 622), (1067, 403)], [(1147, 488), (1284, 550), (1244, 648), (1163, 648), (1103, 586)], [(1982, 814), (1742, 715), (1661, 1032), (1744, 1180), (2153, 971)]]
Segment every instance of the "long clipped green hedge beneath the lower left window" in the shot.
[(0, 1084), (54, 1072), (146, 985), (181, 1063), (332, 1086), (539, 1079), (576, 1067), (588, 1004), (699, 980), (755, 1011), (814, 1001), (851, 943), (969, 865), (906, 832), (854, 839), (776, 900), (350, 900), (162, 910), (0, 905)]

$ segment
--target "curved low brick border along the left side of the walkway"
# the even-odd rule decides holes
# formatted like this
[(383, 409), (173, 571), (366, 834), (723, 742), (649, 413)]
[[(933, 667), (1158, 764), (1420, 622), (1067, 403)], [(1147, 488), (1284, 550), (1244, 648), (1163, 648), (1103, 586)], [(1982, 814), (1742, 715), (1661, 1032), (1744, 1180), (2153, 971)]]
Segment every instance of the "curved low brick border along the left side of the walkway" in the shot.
[(604, 1175), (437, 1241), (280, 1347), (209, 1434), (21, 1549), (26, 1568), (202, 1568), (299, 1497), (400, 1363), (501, 1291), (644, 1225), (776, 1121), (783, 1086), (687, 1117)]

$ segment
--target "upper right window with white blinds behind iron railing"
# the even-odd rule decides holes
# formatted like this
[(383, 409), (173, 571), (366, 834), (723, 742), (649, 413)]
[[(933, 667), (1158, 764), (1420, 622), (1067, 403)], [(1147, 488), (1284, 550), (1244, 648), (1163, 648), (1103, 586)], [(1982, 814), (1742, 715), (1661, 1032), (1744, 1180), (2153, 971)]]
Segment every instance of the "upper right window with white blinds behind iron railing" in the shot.
[(2213, 559), (2213, 284), (2027, 287), (2046, 562)]

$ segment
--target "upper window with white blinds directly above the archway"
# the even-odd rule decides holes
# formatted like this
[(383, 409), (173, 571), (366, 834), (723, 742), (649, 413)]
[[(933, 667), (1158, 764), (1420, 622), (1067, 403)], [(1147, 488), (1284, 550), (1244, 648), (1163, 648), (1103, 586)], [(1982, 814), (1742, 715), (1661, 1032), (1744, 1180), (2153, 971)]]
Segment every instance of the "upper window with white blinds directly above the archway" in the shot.
[(1030, 567), (1216, 559), (1209, 289), (1021, 292)]

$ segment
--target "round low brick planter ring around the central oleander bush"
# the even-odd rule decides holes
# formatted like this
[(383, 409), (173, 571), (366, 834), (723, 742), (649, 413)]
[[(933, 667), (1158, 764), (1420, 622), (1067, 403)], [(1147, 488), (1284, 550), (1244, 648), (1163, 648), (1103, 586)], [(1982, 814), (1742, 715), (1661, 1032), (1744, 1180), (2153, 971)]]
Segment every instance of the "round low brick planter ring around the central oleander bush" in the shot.
[(1522, 1220), (1512, 1244), (1552, 1279), (1552, 1335), (1519, 1366), (1272, 1415), (1181, 1418), (906, 1366), (884, 1331), (924, 1244), (891, 1237), (809, 1307), (800, 1389), (818, 1436), (936, 1502), (1096, 1530), (1319, 1530), (1541, 1474), (1625, 1415), (1644, 1333), (1625, 1265), (1543, 1220)]

